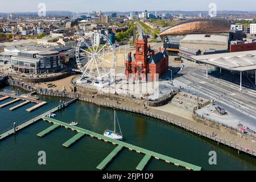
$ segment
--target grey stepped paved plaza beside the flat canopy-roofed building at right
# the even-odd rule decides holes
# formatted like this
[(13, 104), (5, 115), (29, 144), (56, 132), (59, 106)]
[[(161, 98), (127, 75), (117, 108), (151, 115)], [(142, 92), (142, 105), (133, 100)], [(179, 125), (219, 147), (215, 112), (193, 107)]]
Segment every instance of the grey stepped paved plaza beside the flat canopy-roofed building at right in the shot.
[(256, 130), (256, 91), (251, 89), (239, 90), (240, 86), (232, 82), (209, 76), (206, 78), (206, 67), (184, 61), (185, 68), (174, 79), (185, 90), (195, 92), (224, 107), (236, 115), (241, 123)]

